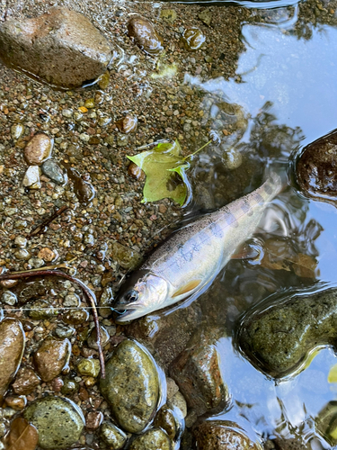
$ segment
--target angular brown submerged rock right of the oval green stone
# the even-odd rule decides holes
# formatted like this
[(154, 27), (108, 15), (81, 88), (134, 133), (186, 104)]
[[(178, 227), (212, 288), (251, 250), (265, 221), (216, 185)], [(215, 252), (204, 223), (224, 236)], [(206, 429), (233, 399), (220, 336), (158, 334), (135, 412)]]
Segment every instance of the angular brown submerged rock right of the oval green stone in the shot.
[(170, 365), (170, 376), (178, 384), (189, 408), (198, 415), (225, 404), (228, 399), (218, 365), (216, 343), (220, 337), (219, 329), (197, 331)]

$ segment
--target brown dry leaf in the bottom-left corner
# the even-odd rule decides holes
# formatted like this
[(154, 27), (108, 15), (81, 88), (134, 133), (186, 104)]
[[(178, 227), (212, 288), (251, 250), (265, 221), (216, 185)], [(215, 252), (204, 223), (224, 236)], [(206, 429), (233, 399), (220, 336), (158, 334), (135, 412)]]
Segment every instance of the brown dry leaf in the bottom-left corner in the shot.
[(14, 419), (11, 430), (4, 438), (4, 448), (6, 450), (35, 450), (38, 446), (38, 430), (26, 419)]

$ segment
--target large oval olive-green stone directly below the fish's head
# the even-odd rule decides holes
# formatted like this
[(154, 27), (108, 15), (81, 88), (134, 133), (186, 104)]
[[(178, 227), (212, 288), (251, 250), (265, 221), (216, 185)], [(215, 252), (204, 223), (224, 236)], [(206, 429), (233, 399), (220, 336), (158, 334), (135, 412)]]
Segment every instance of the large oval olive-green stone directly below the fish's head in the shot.
[(136, 342), (126, 339), (115, 349), (101, 379), (102, 395), (120, 427), (139, 433), (155, 412), (159, 378), (152, 358)]

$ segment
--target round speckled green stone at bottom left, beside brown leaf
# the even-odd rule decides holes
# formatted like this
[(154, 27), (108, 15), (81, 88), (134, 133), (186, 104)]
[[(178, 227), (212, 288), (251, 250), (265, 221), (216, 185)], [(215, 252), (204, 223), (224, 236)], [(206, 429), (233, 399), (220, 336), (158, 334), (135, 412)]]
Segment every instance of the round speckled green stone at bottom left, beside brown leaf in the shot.
[(64, 449), (79, 439), (84, 417), (73, 401), (45, 397), (34, 401), (23, 413), (39, 432), (39, 446), (47, 450)]

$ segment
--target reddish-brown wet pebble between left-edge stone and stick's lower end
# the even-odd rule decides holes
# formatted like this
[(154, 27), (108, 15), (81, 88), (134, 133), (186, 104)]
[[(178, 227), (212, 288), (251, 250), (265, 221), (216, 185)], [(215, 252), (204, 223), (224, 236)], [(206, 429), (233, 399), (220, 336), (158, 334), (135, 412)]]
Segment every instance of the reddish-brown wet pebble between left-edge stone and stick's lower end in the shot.
[(33, 355), (34, 365), (44, 382), (50, 382), (67, 367), (71, 353), (68, 339), (46, 338)]

